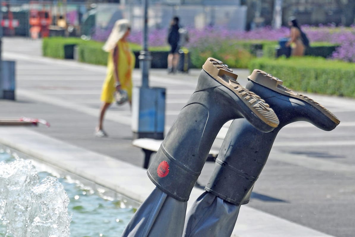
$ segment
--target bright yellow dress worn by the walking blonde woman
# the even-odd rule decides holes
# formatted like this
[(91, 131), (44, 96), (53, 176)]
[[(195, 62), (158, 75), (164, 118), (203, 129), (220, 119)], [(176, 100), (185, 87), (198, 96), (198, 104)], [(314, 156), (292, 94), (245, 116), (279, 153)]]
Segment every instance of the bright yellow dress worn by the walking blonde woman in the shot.
[[(132, 99), (132, 70), (136, 63), (135, 55), (132, 53), (127, 41), (118, 41), (118, 78), (121, 88), (127, 91), (128, 98)], [(101, 101), (106, 103), (115, 102), (114, 93), (116, 81), (114, 77), (113, 58), (109, 54), (107, 60), (107, 74), (102, 86)]]

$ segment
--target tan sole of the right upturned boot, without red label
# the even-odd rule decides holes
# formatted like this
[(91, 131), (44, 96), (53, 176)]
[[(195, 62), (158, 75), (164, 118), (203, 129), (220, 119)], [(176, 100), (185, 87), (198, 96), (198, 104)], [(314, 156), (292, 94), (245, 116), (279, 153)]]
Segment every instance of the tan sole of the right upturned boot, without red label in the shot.
[(321, 104), (314, 101), (313, 99), (311, 99), (307, 96), (301, 95), (299, 93), (295, 93), (292, 90), (290, 90), (289, 88), (283, 86), (282, 85), (283, 81), (278, 79), (277, 77), (274, 77), (273, 75), (267, 74), (266, 72), (264, 72), (262, 70), (255, 69), (252, 72), (252, 74), (248, 77), (248, 79), (256, 82), (259, 85), (269, 88), (270, 90), (280, 93), (282, 95), (301, 99), (302, 101), (304, 101), (308, 104), (311, 104), (311, 106), (318, 109), (320, 112), (322, 112), (324, 115), (326, 115), (329, 119), (331, 119), (336, 125), (338, 125), (340, 123), (340, 120), (333, 113), (331, 113), (328, 109), (326, 109)]

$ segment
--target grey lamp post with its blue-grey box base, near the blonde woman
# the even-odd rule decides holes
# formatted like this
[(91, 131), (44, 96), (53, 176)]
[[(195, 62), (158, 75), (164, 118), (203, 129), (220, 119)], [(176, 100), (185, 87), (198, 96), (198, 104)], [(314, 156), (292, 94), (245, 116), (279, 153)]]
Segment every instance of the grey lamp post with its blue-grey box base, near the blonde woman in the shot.
[(148, 0), (143, 0), (143, 50), (138, 56), (142, 70), (141, 87), (133, 88), (132, 131), (133, 139), (164, 138), (165, 88), (149, 87), (149, 68), (152, 56), (148, 51)]

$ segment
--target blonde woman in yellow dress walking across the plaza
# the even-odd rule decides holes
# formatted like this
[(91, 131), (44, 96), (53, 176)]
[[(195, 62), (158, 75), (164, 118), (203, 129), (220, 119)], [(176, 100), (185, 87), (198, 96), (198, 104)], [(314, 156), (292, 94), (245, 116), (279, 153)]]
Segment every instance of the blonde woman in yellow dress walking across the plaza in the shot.
[(102, 86), (99, 124), (95, 129), (95, 136), (107, 136), (103, 130), (103, 120), (107, 108), (115, 102), (114, 93), (126, 90), (128, 101), (132, 99), (132, 70), (135, 66), (135, 56), (130, 50), (127, 37), (130, 33), (130, 23), (126, 19), (115, 22), (103, 50), (109, 52), (107, 75)]

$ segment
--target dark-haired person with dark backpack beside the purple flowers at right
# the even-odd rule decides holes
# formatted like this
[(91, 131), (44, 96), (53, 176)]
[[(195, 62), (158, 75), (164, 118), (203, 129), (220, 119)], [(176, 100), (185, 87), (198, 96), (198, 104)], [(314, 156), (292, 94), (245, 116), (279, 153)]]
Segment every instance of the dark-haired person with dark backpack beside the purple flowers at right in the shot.
[(305, 54), (306, 47), (309, 46), (309, 41), (306, 34), (301, 30), (296, 18), (290, 18), (289, 21), (290, 39), (286, 42), (286, 47), (293, 45), (291, 50), (291, 56), (303, 56)]

